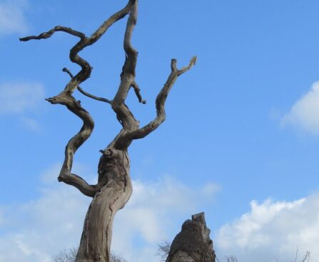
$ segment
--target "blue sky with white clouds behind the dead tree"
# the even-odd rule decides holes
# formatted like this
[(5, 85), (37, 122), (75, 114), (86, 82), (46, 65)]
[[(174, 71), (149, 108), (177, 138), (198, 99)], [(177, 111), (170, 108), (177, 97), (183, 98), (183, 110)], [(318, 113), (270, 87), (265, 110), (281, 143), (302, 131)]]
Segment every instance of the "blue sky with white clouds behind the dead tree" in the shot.
[[(89, 203), (56, 181), (81, 122), (44, 101), (69, 80), (62, 68), (79, 70), (68, 59), (77, 39), (18, 38), (58, 24), (91, 34), (125, 4), (0, 0), (0, 261), (46, 262), (76, 246)], [(116, 216), (113, 250), (156, 261), (156, 245), (205, 211), (221, 261), (293, 260), (297, 246), (318, 261), (318, 9), (315, 0), (140, 1), (133, 45), (147, 104), (134, 94), (127, 103), (141, 124), (155, 114), (171, 58), (198, 63), (173, 87), (164, 124), (130, 147), (134, 193)], [(125, 24), (81, 53), (93, 66), (83, 89), (115, 94)], [(108, 105), (75, 96), (96, 121), (75, 168), (94, 181), (98, 150), (120, 126)]]

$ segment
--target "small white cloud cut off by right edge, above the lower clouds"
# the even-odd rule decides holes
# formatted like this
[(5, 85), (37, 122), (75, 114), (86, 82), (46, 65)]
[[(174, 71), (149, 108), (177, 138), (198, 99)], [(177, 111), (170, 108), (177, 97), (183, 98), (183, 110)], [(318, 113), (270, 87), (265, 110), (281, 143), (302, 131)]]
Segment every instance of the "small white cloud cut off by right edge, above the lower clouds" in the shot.
[(319, 134), (319, 82), (302, 96), (282, 119), (283, 126), (290, 124), (303, 131)]

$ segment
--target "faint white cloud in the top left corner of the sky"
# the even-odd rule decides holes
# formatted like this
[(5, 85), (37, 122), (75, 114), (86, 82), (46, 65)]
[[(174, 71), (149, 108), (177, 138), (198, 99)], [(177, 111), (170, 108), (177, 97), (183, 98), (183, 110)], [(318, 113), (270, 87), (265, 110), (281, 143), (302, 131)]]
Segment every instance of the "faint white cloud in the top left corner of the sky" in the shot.
[(26, 1), (10, 0), (0, 3), (0, 35), (1, 34), (23, 34), (27, 30), (24, 17)]

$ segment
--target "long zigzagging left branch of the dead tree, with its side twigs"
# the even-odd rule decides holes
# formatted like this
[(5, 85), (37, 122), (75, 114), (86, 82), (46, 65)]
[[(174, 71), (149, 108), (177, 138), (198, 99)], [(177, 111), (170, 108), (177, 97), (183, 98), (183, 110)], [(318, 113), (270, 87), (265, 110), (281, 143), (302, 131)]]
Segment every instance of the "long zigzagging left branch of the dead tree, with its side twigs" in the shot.
[(64, 91), (62, 91), (57, 96), (54, 96), (46, 100), (49, 101), (51, 104), (61, 104), (66, 106), (67, 109), (69, 109), (69, 111), (76, 114), (76, 116), (79, 116), (79, 118), (83, 121), (83, 126), (81, 130), (79, 131), (79, 133), (77, 133), (74, 137), (72, 137), (69, 143), (66, 145), (64, 164), (61, 168), (59, 181), (63, 181), (64, 183), (68, 183), (72, 186), (75, 186), (86, 196), (94, 196), (96, 191), (98, 190), (98, 185), (96, 186), (88, 185), (88, 183), (86, 183), (86, 181), (84, 181), (83, 178), (71, 173), (71, 168), (72, 168), (72, 163), (74, 159), (74, 153), (91, 135), (93, 131), (94, 123), (90, 114), (88, 114), (88, 111), (82, 108), (80, 101), (76, 101), (76, 99), (74, 99), (74, 96), (72, 96), (72, 93), (74, 92), (74, 90), (79, 89), (79, 91), (81, 91), (82, 94), (88, 97), (91, 97), (92, 99), (104, 101), (108, 104), (111, 104), (111, 101), (108, 101), (108, 99), (102, 99), (102, 98), (98, 98), (97, 96), (88, 94), (87, 92), (83, 91), (81, 87), (79, 87), (79, 85), (83, 81), (86, 81), (86, 79), (88, 79), (91, 76), (91, 69), (92, 69), (90, 64), (88, 64), (88, 61), (86, 61), (85, 59), (79, 56), (79, 52), (82, 51), (87, 46), (91, 46), (96, 41), (98, 41), (98, 39), (100, 39), (101, 36), (103, 36), (103, 34), (107, 31), (107, 29), (111, 25), (113, 25), (116, 21), (125, 17), (131, 11), (131, 6), (133, 6), (133, 4), (135, 3), (136, 3), (136, 0), (128, 0), (128, 4), (126, 4), (126, 6), (123, 9), (116, 12), (116, 14), (113, 14), (112, 16), (110, 16), (89, 37), (69, 27), (56, 26), (54, 27), (54, 29), (51, 29), (42, 34), (39, 34), (39, 36), (27, 36), (20, 39), (20, 41), (48, 39), (56, 31), (63, 31), (67, 34), (71, 34), (73, 36), (77, 36), (80, 38), (80, 41), (71, 48), (69, 57), (72, 62), (81, 66), (81, 71), (79, 71), (79, 73), (76, 74), (76, 76), (73, 76), (69, 70), (65, 69), (64, 71), (66, 71), (66, 73), (68, 73), (71, 76), (71, 80), (66, 85)]

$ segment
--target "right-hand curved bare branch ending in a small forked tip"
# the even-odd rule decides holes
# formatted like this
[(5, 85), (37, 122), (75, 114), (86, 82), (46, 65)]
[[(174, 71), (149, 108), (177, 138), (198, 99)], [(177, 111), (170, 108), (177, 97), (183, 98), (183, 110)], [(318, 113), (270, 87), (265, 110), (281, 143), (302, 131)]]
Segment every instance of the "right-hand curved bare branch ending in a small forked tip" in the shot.
[(168, 76), (168, 79), (164, 84), (163, 89), (161, 89), (158, 96), (156, 97), (156, 118), (150, 123), (148, 123), (146, 126), (143, 126), (141, 129), (130, 131), (126, 134), (126, 136), (132, 139), (143, 138), (147, 136), (149, 133), (153, 132), (155, 129), (157, 129), (158, 126), (160, 126), (166, 119), (165, 102), (169, 94), (169, 91), (171, 91), (171, 88), (173, 87), (173, 84), (175, 83), (176, 79), (178, 79), (178, 76), (181, 76), (181, 74), (185, 73), (186, 71), (191, 69), (193, 65), (196, 64), (196, 56), (194, 56), (191, 59), (188, 66), (185, 66), (180, 70), (177, 69), (176, 63), (176, 59), (172, 59), (171, 74)]

